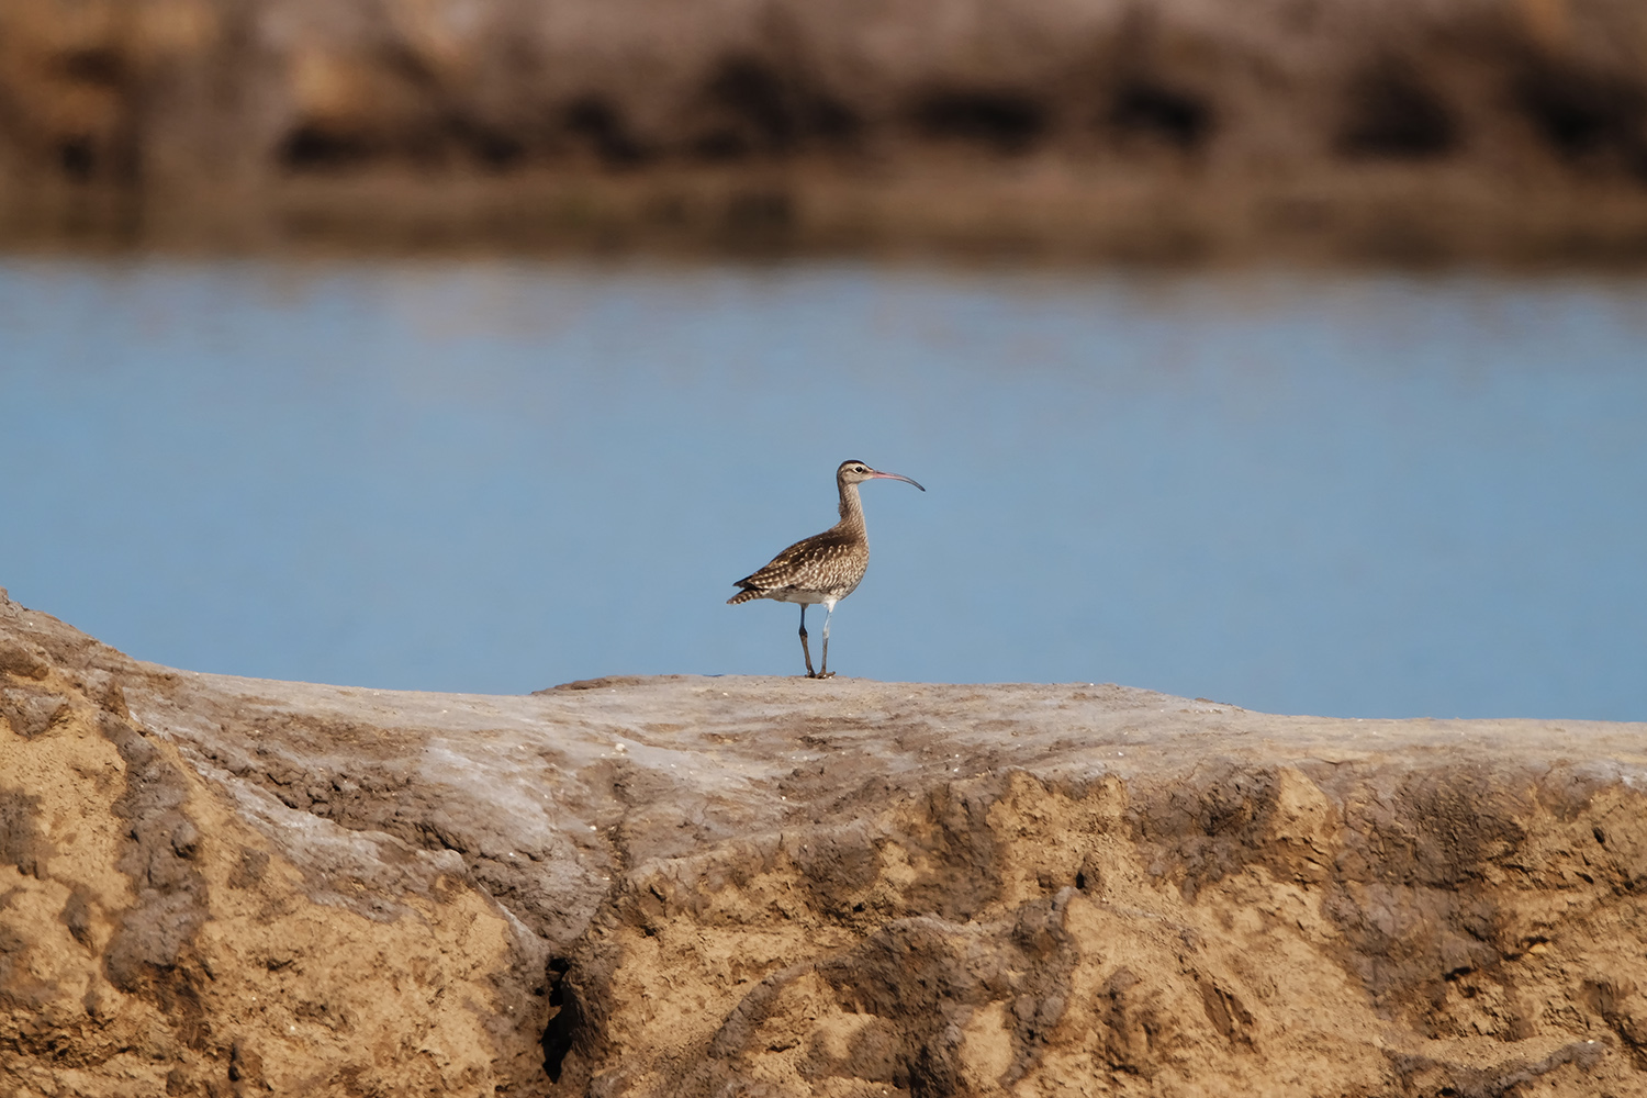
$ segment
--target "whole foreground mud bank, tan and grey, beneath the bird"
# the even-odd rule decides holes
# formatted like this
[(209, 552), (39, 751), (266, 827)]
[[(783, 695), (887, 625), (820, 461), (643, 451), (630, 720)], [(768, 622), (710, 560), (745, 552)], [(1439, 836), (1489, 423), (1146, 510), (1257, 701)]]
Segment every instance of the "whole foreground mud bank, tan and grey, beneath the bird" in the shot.
[(1644, 733), (390, 693), (0, 601), (0, 1091), (1635, 1093)]

